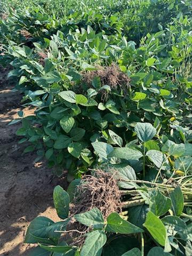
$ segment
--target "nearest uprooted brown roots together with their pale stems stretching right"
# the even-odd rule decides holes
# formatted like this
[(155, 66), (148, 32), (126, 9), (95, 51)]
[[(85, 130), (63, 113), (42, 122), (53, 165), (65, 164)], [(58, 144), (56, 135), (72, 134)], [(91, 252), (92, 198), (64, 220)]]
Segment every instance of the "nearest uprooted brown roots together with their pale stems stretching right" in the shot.
[[(142, 197), (141, 191), (149, 193), (150, 190), (158, 188), (162, 194), (169, 196), (169, 193), (175, 187), (180, 186), (186, 206), (192, 205), (192, 188), (190, 177), (179, 177), (170, 179), (163, 183), (153, 183), (145, 180), (123, 180), (119, 177), (118, 172), (110, 170), (93, 170), (93, 175), (84, 175), (81, 182), (74, 191), (73, 203), (70, 204), (70, 217), (67, 228), (67, 240), (70, 245), (81, 247), (85, 241), (86, 234), (92, 230), (77, 222), (75, 214), (90, 211), (97, 207), (105, 220), (110, 213), (117, 212), (124, 215), (122, 209), (137, 206), (146, 203)], [(119, 189), (118, 182), (126, 181), (131, 184), (135, 183), (134, 189)], [(126, 218), (126, 217), (124, 217)]]

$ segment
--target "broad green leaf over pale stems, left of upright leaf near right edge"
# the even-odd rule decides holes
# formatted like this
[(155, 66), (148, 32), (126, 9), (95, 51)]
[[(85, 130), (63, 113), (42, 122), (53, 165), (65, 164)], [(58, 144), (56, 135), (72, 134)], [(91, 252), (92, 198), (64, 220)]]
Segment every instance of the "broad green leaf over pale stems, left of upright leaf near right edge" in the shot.
[(149, 208), (156, 216), (162, 216), (170, 210), (171, 199), (164, 196), (159, 189), (154, 189), (149, 195)]

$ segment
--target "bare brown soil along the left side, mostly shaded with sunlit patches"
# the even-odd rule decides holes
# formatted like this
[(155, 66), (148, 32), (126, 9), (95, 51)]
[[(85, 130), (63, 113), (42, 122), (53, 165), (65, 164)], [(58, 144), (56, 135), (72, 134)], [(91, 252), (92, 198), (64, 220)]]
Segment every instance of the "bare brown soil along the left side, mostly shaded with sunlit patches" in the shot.
[(34, 110), (20, 106), (22, 95), (12, 92), (6, 75), (0, 67), (0, 255), (27, 256), (33, 247), (23, 244), (29, 223), (40, 215), (59, 220), (52, 192), (58, 184), (66, 188), (67, 181), (53, 177), (45, 163), (35, 163), (35, 153), (22, 154), (26, 146), (15, 135), (21, 124), (7, 124), (19, 110), (25, 116)]

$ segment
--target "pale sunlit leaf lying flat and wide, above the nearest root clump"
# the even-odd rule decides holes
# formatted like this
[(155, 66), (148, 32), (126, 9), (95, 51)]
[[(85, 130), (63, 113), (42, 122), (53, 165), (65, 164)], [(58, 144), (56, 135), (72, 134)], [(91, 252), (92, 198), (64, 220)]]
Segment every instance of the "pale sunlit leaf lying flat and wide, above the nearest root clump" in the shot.
[(139, 150), (124, 147), (115, 148), (113, 151), (111, 151), (108, 157), (117, 157), (125, 160), (138, 160), (142, 156), (143, 155)]

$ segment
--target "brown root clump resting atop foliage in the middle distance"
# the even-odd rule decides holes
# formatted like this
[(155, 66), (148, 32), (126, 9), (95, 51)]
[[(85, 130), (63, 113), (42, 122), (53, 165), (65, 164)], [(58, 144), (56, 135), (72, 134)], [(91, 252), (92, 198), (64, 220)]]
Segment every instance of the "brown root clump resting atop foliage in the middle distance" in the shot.
[[(115, 63), (112, 63), (111, 66), (103, 67), (96, 66), (96, 70), (83, 72), (83, 82), (86, 83), (89, 87), (92, 86), (92, 81), (94, 77), (99, 77), (101, 85), (109, 85), (112, 90), (123, 90), (124, 95), (126, 95), (127, 90), (130, 89), (130, 78), (121, 71), (119, 66)], [(106, 90), (101, 91), (101, 98), (103, 101), (108, 99), (108, 94)]]

